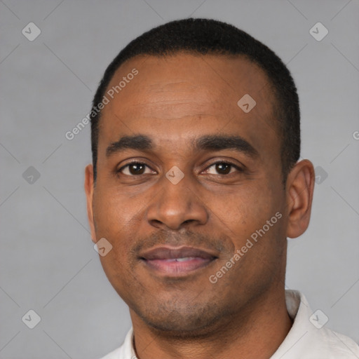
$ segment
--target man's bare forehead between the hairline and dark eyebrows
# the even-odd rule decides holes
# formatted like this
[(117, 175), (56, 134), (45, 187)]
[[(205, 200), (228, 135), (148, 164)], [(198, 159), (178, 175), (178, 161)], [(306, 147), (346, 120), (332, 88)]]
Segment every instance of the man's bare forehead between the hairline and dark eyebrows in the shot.
[[(138, 73), (128, 76), (134, 69)], [(99, 150), (101, 142), (135, 133), (172, 147), (196, 133), (238, 133), (259, 147), (278, 142), (269, 80), (245, 57), (137, 56), (116, 71), (105, 95), (109, 103), (102, 109)], [(256, 104), (245, 113), (238, 100), (248, 95)]]

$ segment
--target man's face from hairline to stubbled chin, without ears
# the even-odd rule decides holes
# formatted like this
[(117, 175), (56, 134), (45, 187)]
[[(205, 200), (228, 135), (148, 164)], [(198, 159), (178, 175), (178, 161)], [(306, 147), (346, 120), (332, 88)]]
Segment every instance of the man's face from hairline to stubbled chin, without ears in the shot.
[[(138, 74), (102, 110), (88, 197), (93, 238), (113, 246), (100, 259), (133, 321), (203, 332), (283, 286), (287, 219), (274, 95), (264, 72), (242, 57), (183, 53), (135, 57), (107, 90), (133, 68)], [(256, 102), (247, 113), (237, 104), (246, 94)], [(116, 144), (133, 136), (142, 137)]]

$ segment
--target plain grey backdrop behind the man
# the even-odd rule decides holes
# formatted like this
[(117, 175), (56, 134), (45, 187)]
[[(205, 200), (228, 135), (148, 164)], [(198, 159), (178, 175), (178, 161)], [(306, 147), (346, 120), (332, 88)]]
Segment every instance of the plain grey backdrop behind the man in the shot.
[[(321, 177), (309, 229), (289, 240), (287, 288), (359, 341), (358, 1), (3, 0), (0, 11), (0, 358), (100, 358), (122, 343), (128, 307), (104, 276), (86, 216), (90, 126), (72, 141), (65, 133), (128, 41), (189, 16), (244, 29), (290, 68), (302, 157)], [(34, 41), (22, 34), (29, 22), (41, 29)], [(309, 34), (316, 22), (329, 30), (322, 41)], [(29, 309), (41, 317), (32, 330), (22, 322)]]

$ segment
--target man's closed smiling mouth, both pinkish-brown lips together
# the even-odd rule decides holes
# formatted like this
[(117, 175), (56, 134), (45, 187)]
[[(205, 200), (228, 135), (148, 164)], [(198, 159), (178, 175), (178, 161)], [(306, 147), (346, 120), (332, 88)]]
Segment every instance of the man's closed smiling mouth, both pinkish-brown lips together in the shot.
[(154, 248), (140, 255), (148, 269), (170, 277), (187, 276), (203, 269), (217, 258), (215, 253), (193, 247)]

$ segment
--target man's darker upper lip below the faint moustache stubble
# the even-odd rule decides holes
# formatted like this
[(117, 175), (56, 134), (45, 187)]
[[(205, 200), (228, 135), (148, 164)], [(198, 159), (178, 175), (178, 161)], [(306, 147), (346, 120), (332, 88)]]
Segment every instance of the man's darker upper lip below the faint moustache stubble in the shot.
[(201, 250), (194, 247), (157, 247), (140, 254), (140, 257), (147, 260), (153, 259), (176, 259), (185, 257), (200, 257), (204, 259), (217, 258), (210, 250)]

